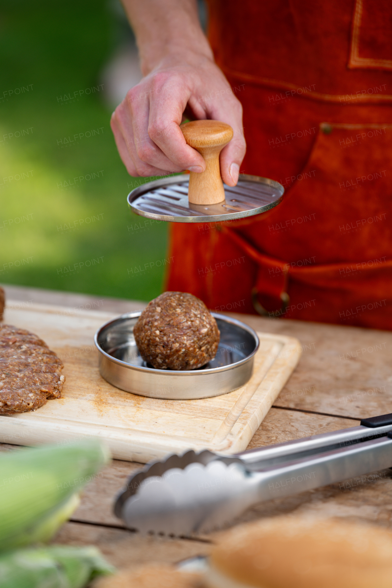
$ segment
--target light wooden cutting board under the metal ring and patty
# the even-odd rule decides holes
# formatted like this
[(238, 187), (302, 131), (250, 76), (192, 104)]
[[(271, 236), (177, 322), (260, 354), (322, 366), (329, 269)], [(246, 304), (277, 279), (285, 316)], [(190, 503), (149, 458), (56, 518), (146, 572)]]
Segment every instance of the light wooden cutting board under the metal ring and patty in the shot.
[[(8, 301), (5, 323), (39, 335), (64, 363), (62, 398), (35, 412), (0, 416), (0, 442), (15, 445), (105, 440), (113, 457), (133, 462), (187, 449), (237, 453), (279, 395), (300, 357), (299, 340), (257, 333), (253, 376), (234, 392), (200, 400), (162, 400), (123, 392), (98, 371), (96, 330), (116, 315), (60, 306), (21, 309)], [(19, 309), (18, 309), (19, 308)]]

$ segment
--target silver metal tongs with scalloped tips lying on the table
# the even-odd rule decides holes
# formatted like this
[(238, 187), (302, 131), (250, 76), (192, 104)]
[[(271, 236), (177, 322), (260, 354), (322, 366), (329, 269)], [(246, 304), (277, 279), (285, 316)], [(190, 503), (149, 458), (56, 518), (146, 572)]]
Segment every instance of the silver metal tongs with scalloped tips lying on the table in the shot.
[(258, 502), (392, 466), (392, 414), (358, 427), (251, 449), (170, 455), (129, 477), (115, 515), (142, 533), (192, 536), (231, 523)]

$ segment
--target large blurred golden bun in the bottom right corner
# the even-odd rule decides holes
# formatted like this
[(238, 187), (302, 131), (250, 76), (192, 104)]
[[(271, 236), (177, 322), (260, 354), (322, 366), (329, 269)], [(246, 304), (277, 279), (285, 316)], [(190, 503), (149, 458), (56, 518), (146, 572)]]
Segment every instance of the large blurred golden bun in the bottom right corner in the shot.
[(390, 588), (392, 533), (277, 517), (234, 527), (212, 551), (209, 588)]

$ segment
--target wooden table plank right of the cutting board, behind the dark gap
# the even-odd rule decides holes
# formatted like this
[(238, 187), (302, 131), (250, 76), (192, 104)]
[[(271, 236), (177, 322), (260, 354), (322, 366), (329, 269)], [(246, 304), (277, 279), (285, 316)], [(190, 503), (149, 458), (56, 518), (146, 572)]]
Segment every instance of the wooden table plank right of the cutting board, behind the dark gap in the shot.
[(303, 353), (275, 406), (357, 419), (392, 412), (392, 333), (233, 315), (253, 328), (297, 337)]

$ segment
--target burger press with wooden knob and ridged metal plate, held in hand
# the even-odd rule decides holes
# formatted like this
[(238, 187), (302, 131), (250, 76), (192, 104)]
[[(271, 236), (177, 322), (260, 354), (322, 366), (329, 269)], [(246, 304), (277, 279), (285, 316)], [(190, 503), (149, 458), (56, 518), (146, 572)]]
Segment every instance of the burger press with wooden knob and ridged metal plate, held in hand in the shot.
[(231, 126), (192, 121), (180, 129), (187, 144), (205, 159), (206, 170), (138, 186), (128, 195), (128, 204), (137, 215), (170, 222), (223, 222), (258, 215), (282, 200), (283, 186), (267, 178), (241, 174), (234, 188), (223, 184), (219, 153), (233, 137)]

